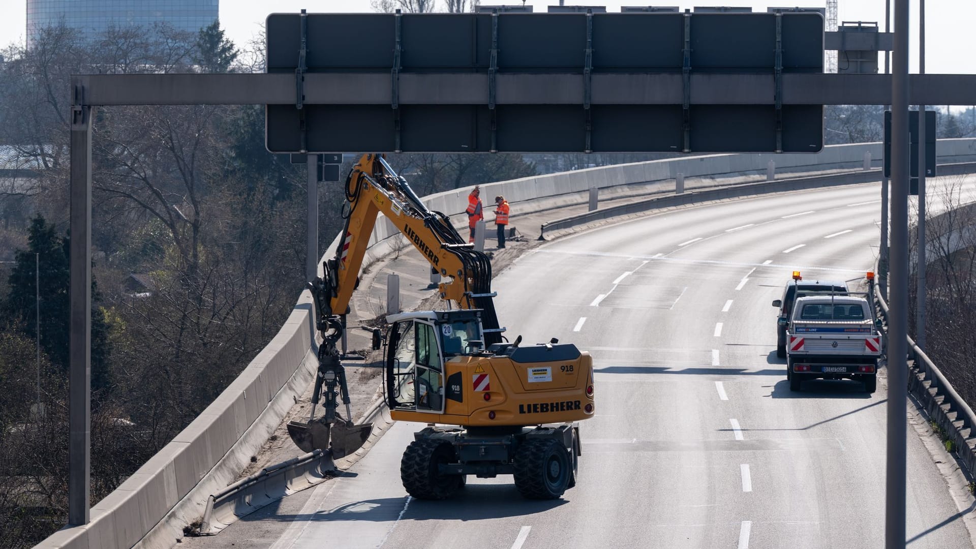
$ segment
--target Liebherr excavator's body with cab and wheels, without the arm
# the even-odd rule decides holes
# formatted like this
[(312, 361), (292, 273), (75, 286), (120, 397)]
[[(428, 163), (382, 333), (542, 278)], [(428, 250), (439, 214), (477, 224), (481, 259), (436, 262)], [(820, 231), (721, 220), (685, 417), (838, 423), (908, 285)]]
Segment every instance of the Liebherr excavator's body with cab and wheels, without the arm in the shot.
[(521, 338), (485, 348), (479, 310), (386, 319), (390, 415), (430, 424), (400, 462), (410, 495), (450, 497), (468, 475), (512, 475), (534, 499), (575, 486), (581, 446), (574, 422), (594, 411), (588, 353), (555, 340), (520, 346)]

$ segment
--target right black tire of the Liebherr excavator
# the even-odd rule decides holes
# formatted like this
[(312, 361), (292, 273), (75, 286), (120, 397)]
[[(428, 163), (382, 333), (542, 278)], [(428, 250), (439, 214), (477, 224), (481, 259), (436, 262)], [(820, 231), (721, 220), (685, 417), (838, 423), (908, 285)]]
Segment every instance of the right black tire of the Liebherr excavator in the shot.
[(570, 452), (554, 440), (525, 441), (515, 450), (515, 487), (528, 499), (556, 499), (573, 476)]

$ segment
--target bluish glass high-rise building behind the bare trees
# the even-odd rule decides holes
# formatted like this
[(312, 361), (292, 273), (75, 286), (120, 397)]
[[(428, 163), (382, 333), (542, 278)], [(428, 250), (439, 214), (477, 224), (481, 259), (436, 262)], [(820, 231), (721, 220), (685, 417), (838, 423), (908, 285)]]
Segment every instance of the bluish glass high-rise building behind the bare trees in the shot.
[(217, 20), (220, 0), (27, 0), (27, 47), (40, 29), (60, 24), (95, 38), (110, 26), (166, 22), (197, 32)]

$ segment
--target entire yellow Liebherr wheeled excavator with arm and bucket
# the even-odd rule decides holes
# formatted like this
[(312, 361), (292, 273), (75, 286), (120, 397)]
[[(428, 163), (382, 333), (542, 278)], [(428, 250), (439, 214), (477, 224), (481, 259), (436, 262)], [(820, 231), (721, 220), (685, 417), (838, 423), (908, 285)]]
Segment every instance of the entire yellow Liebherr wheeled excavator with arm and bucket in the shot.
[[(288, 425), (305, 451), (329, 449), (341, 457), (360, 447), (372, 425), (353, 425), (345, 370), (336, 343), (359, 269), (379, 214), (441, 275), (446, 311), (386, 317), (373, 348), (386, 347), (384, 390), (390, 416), (426, 423), (400, 463), (413, 497), (444, 499), (468, 475), (512, 475), (523, 496), (553, 499), (576, 485), (581, 455), (579, 420), (593, 416), (590, 354), (555, 338), (521, 345), (502, 335), (491, 291), (491, 263), (451, 226), (427, 209), (381, 154), (364, 154), (346, 179), (345, 237), (324, 275), (309, 283), (323, 343), (307, 423)], [(452, 308), (456, 306), (457, 309)], [(325, 415), (315, 405), (325, 400)], [(337, 397), (346, 418), (337, 412)]]

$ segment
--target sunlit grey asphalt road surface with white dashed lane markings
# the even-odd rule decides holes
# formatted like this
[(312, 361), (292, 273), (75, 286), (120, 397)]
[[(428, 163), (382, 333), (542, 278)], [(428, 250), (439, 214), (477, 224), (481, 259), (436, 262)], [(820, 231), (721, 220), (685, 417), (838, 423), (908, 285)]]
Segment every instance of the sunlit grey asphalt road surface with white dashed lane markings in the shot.
[[(524, 500), (499, 477), (412, 500), (399, 461), (423, 425), (399, 423), (346, 477), (189, 545), (883, 547), (883, 372), (874, 395), (851, 381), (791, 392), (771, 306), (796, 270), (863, 279), (878, 196), (871, 184), (649, 215), (535, 248), (499, 275), (509, 339), (557, 337), (593, 356), (597, 413), (563, 499)], [(924, 429), (907, 441), (909, 547), (972, 547), (972, 507), (951, 495), (951, 458)]]

